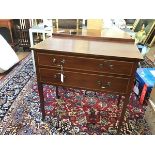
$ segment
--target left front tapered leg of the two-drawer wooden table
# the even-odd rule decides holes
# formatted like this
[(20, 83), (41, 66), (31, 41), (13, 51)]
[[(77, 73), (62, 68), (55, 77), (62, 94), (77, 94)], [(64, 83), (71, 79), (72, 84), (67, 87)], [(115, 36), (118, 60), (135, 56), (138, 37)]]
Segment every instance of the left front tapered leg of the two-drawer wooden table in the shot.
[(42, 120), (45, 120), (45, 105), (44, 105), (44, 94), (43, 94), (43, 85), (38, 82), (38, 92), (40, 97), (40, 110), (42, 112)]

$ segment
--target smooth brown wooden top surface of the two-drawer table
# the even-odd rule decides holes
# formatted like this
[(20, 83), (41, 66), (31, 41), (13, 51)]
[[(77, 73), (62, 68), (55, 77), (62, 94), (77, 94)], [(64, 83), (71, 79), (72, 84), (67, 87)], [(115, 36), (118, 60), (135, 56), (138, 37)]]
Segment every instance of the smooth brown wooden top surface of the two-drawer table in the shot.
[(80, 40), (64, 37), (50, 37), (31, 47), (32, 50), (46, 50), (63, 54), (85, 54), (106, 57), (143, 59), (134, 43), (114, 41)]

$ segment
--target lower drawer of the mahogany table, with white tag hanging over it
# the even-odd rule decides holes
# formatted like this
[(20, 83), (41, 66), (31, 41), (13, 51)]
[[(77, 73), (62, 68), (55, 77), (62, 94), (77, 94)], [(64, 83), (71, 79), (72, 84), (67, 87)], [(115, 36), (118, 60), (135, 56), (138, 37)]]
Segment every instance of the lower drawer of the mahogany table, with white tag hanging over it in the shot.
[(107, 92), (126, 93), (130, 82), (129, 78), (65, 71), (62, 83), (59, 70), (40, 68), (39, 73), (43, 83)]

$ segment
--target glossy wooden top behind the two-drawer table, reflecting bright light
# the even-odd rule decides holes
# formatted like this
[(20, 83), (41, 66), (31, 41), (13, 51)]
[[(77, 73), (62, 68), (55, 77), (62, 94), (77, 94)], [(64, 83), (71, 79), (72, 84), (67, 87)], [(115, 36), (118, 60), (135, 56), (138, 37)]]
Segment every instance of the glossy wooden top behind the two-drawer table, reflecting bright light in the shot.
[(101, 30), (95, 29), (53, 29), (53, 36), (61, 37), (74, 37), (80, 39), (92, 39), (92, 40), (108, 40), (108, 41), (121, 41), (121, 42), (134, 42), (134, 39), (123, 30), (112, 27), (103, 28)]

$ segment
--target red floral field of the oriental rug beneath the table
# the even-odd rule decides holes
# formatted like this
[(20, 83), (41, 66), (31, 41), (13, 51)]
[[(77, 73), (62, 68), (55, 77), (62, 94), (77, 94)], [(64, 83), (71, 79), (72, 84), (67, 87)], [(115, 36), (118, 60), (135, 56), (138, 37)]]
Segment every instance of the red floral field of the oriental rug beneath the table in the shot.
[[(37, 93), (36, 85), (34, 91)], [(59, 95), (61, 99), (56, 99), (55, 87), (44, 85), (47, 120), (48, 117), (58, 118), (77, 126), (80, 132), (91, 135), (116, 134), (122, 107), (121, 105), (119, 110), (117, 108), (118, 96), (62, 87), (59, 87)], [(139, 104), (135, 94), (132, 94), (121, 129), (122, 134), (148, 134), (144, 112), (145, 106)]]

